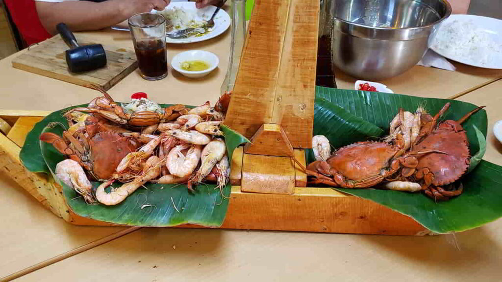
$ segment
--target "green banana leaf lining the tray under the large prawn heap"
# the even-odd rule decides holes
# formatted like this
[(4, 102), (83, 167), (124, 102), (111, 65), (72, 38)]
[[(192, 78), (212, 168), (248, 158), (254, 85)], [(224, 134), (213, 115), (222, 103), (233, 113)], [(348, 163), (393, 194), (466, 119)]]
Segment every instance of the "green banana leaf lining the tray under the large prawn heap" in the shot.
[[(168, 105), (161, 105), (163, 107)], [(195, 192), (189, 192), (186, 185), (165, 185), (147, 183), (126, 200), (115, 206), (88, 205), (73, 189), (59, 181), (54, 175), (56, 165), (66, 159), (52, 145), (39, 142), (42, 132), (61, 134), (64, 130), (63, 113), (69, 108), (51, 113), (40, 121), (28, 134), (20, 158), (32, 172), (49, 172), (63, 187), (66, 203), (74, 213), (99, 221), (134, 226), (176, 226), (198, 224), (219, 227), (223, 223), (228, 208), (231, 187), (227, 185), (220, 191), (216, 185), (198, 185)], [(57, 123), (59, 122), (59, 123)], [(235, 148), (248, 140), (222, 126), (227, 143), (227, 153), (231, 157)], [(100, 182), (93, 182), (93, 189)]]

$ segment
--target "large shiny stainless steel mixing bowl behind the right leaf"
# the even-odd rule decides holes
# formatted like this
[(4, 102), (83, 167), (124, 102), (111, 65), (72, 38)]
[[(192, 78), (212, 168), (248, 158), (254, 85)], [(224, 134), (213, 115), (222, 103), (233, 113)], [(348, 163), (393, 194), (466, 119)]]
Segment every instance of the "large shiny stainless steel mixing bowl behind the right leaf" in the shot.
[(446, 0), (331, 1), (333, 64), (373, 81), (416, 65), (437, 25), (451, 14)]

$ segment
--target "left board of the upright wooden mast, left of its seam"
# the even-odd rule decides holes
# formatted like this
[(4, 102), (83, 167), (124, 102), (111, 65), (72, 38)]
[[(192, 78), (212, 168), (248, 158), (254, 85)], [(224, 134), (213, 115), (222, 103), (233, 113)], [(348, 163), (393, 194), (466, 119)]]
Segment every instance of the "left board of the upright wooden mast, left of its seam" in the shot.
[(225, 124), (247, 138), (270, 122), (291, 0), (257, 0)]

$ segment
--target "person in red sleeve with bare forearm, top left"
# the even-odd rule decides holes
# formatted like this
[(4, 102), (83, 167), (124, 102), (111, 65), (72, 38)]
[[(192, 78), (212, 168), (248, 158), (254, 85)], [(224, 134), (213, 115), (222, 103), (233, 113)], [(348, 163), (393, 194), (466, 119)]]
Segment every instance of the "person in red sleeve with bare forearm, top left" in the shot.
[[(66, 23), (72, 31), (99, 30), (121, 23), (138, 13), (163, 10), (180, 0), (4, 0), (14, 24), (27, 45), (55, 35), (56, 25)], [(196, 0), (197, 8), (221, 0)]]

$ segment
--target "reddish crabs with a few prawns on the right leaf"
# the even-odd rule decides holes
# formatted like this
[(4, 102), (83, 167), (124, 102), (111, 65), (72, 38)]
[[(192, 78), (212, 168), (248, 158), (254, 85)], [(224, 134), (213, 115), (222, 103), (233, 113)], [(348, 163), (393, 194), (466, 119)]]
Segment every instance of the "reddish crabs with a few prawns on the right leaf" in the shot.
[(307, 167), (307, 174), (312, 177), (310, 183), (367, 188), (384, 181), (404, 181), (410, 187), (420, 185), (427, 196), (436, 200), (460, 195), (462, 186), (452, 184), (467, 171), (470, 161), (469, 144), (461, 124), (483, 107), (459, 120), (439, 122), (449, 106), (446, 103), (435, 116), (419, 109), (419, 118), (410, 117), (409, 122), (400, 110), (395, 124), (391, 123), (394, 132), (386, 139), (389, 142), (359, 142), (340, 148), (331, 156), (327, 139), (315, 136), (317, 161)]

